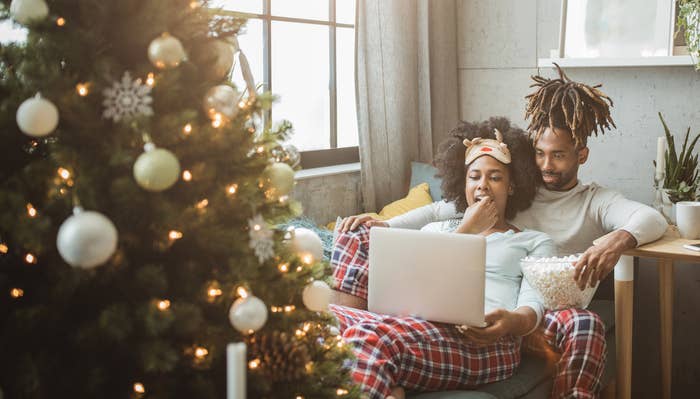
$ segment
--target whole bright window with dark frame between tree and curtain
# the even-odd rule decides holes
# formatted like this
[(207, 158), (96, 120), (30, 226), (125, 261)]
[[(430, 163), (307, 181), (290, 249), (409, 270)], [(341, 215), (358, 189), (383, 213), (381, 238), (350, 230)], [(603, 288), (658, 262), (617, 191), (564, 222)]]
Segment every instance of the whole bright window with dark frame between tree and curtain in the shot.
[[(357, 162), (355, 0), (215, 0), (248, 18), (238, 37), (256, 82), (279, 101), (272, 120), (294, 126), (290, 141), (311, 168)], [(245, 85), (234, 71), (236, 85)]]

